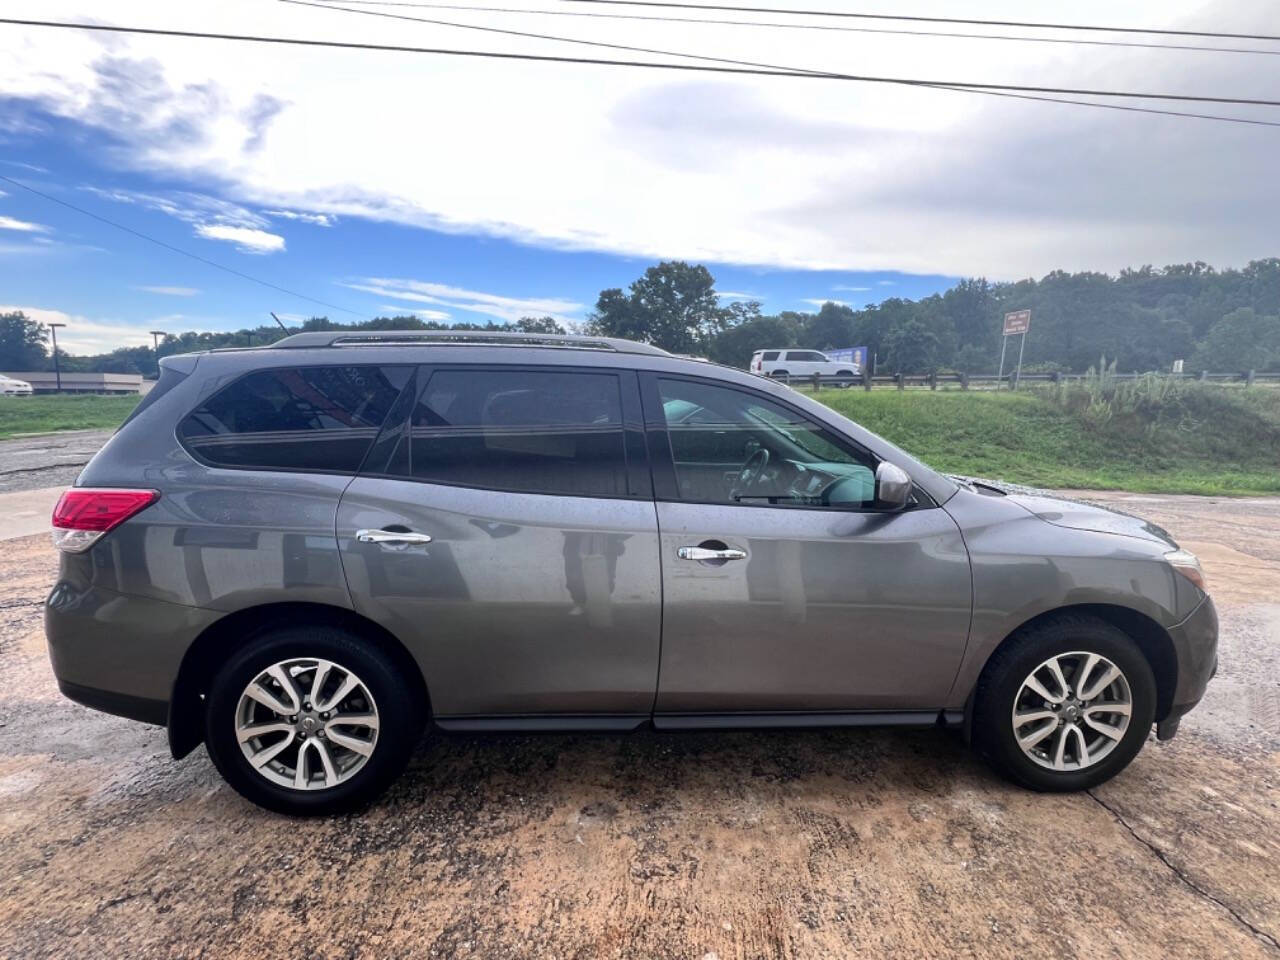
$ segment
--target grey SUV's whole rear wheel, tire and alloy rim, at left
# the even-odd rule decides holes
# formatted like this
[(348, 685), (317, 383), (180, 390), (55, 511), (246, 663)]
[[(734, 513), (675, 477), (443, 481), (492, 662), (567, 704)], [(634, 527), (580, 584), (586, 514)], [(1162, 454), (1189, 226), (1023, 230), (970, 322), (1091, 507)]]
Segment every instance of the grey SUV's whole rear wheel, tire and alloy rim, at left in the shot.
[(349, 810), (401, 773), (422, 707), (393, 660), (335, 627), (256, 637), (214, 678), (205, 742), (242, 796), (279, 813)]

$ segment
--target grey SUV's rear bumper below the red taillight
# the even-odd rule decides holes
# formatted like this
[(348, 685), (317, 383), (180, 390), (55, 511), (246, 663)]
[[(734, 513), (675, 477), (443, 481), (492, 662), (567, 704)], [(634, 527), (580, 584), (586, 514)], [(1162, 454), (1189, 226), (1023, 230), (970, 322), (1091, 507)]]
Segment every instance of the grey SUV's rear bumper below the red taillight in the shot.
[(59, 580), (45, 600), (58, 687), (96, 710), (164, 724), (182, 658), (220, 616)]

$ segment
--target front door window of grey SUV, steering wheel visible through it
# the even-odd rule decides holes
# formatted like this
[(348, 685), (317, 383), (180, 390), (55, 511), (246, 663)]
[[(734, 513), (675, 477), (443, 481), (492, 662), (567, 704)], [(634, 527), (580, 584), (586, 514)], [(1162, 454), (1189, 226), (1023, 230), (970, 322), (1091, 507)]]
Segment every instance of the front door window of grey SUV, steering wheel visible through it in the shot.
[(767, 397), (658, 380), (681, 499), (869, 508), (876, 458)]

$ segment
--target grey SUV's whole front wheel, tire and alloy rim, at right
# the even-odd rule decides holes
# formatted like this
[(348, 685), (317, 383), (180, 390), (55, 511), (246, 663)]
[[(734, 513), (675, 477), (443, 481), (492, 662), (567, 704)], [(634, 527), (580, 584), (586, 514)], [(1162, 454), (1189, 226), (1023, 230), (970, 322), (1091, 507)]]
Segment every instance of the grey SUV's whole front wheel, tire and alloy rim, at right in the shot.
[(1155, 721), (1156, 680), (1121, 630), (1061, 617), (1011, 637), (975, 698), (974, 742), (996, 769), (1033, 790), (1085, 790), (1138, 755)]

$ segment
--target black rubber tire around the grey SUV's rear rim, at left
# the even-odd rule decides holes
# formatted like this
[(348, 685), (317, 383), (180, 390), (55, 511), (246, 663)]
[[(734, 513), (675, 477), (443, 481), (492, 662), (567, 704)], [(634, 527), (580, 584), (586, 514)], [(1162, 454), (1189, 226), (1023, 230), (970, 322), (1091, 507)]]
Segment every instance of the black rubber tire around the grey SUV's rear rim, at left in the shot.
[[(246, 687), (270, 666), (293, 658), (326, 659), (353, 671), (376, 704), (372, 753), (349, 780), (333, 787), (296, 790), (269, 781), (250, 764), (236, 736), (237, 707)], [(315, 817), (358, 809), (380, 796), (404, 769), (425, 721), (416, 685), (375, 644), (339, 627), (282, 627), (256, 636), (214, 677), (205, 744), (218, 772), (241, 796), (276, 813)]]

